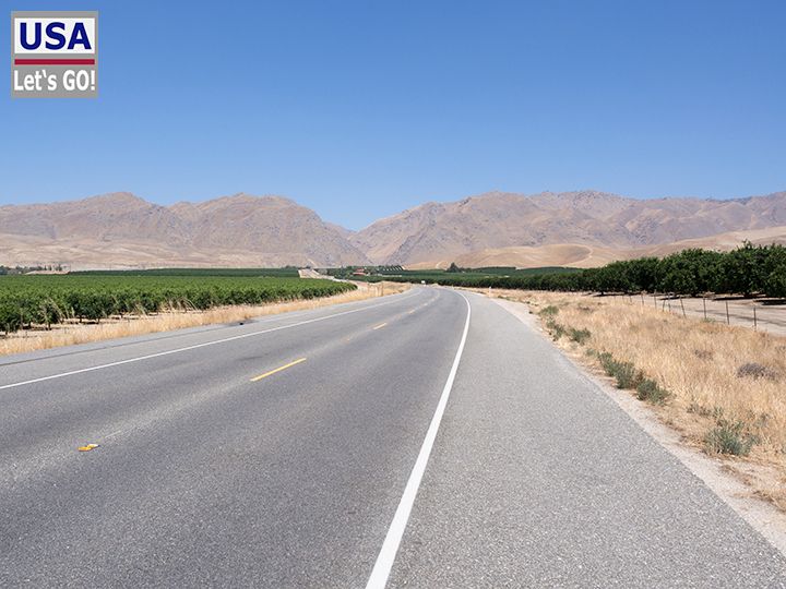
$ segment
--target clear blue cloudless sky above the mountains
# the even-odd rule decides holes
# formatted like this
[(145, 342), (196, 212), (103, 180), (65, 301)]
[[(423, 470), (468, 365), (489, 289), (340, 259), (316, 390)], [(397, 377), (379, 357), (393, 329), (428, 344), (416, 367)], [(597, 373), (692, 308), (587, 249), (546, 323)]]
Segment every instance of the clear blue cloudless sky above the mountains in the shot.
[(278, 194), (359, 229), (491, 190), (786, 190), (783, 0), (3, 3), (98, 10), (99, 97), (7, 77), (0, 204)]

